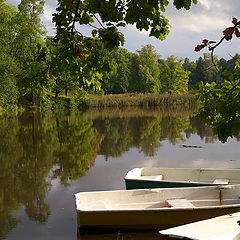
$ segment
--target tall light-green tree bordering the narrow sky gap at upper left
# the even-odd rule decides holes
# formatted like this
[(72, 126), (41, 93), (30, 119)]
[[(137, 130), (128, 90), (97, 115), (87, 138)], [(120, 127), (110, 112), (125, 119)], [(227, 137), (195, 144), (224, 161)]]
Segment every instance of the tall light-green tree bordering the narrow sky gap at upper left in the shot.
[(45, 47), (45, 28), (41, 22), (44, 0), (22, 0), (18, 5), (18, 31), (15, 37), (15, 56), (21, 72), (18, 77), (18, 86), (21, 94), (30, 94), (34, 97), (39, 94), (46, 84), (42, 73), (46, 69), (41, 54)]

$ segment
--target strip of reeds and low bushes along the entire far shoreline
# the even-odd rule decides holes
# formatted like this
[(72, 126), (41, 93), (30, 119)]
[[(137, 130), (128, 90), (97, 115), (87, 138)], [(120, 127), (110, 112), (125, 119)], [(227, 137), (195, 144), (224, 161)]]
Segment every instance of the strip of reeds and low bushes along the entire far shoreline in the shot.
[[(84, 95), (80, 98), (72, 96), (45, 96), (44, 101), (32, 105), (31, 101), (24, 99), (17, 105), (2, 107), (0, 105), (0, 116), (17, 114), (28, 110), (71, 110), (71, 109), (94, 109), (94, 108), (127, 108), (127, 107), (166, 107), (175, 111), (177, 108), (188, 110), (196, 109), (198, 103), (194, 95), (184, 94), (112, 94), (112, 95)], [(112, 110), (111, 110), (112, 111)]]

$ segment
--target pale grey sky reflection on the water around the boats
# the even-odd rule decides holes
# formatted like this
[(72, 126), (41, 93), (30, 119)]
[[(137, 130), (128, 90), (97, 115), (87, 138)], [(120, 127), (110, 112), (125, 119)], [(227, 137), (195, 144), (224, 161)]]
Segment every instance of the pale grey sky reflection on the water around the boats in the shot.
[[(76, 239), (77, 222), (73, 194), (80, 191), (124, 189), (124, 176), (135, 167), (240, 168), (239, 142), (234, 139), (229, 139), (225, 144), (218, 141), (206, 144), (199, 136), (193, 134), (184, 143), (171, 145), (168, 141), (163, 141), (161, 144), (154, 157), (146, 157), (136, 148), (130, 149), (119, 158), (109, 157), (105, 160), (104, 156), (100, 155), (86, 176), (67, 187), (61, 185), (58, 180), (52, 180), (52, 187), (46, 199), (51, 207), (48, 222), (38, 224), (29, 220), (25, 212), (20, 210), (15, 215), (21, 222), (7, 235), (7, 239)], [(203, 148), (185, 148), (181, 144)], [(85, 237), (91, 239), (90, 236)], [(114, 235), (111, 237), (116, 238)], [(154, 239), (150, 235), (148, 237)], [(101, 237), (95, 236), (92, 239)]]

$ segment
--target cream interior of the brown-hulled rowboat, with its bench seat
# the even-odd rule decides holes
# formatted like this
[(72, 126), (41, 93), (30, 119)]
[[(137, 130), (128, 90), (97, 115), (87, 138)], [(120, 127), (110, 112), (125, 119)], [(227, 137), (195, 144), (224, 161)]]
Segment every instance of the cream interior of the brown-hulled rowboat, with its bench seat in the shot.
[(79, 210), (240, 207), (240, 186), (89, 192), (77, 194), (76, 204)]

